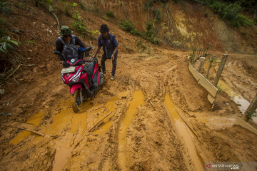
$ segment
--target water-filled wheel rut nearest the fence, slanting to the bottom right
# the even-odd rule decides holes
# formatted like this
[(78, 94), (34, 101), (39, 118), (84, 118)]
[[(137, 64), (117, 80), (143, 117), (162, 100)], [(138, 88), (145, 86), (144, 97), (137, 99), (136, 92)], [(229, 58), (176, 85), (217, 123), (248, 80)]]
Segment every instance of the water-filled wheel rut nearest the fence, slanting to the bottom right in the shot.
[(196, 147), (193, 143), (193, 133), (188, 128), (186, 123), (184, 123), (181, 117), (178, 115), (176, 111), (176, 106), (173, 104), (173, 101), (171, 100), (171, 97), (168, 94), (165, 95), (164, 103), (166, 105), (166, 110), (168, 110), (169, 115), (171, 115), (171, 118), (175, 123), (178, 135), (183, 139), (183, 142), (186, 145), (190, 159), (193, 162), (194, 170), (204, 170), (201, 160), (197, 155)]

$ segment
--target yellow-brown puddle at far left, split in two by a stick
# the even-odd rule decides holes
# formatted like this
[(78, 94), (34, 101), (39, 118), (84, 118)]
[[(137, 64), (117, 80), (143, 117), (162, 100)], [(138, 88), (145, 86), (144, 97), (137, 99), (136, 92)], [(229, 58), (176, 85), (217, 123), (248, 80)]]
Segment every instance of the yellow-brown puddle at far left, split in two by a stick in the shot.
[[(41, 122), (41, 119), (43, 118), (43, 116), (44, 116), (44, 114), (41, 112), (36, 113), (36, 115), (33, 115), (31, 118), (29, 118), (29, 120), (27, 120), (26, 123), (38, 126), (39, 123)], [(16, 145), (19, 142), (21, 142), (22, 140), (24, 140), (24, 138), (29, 137), (29, 135), (31, 135), (31, 132), (22, 130), (21, 133), (18, 133), (16, 135), (16, 137), (10, 141), (10, 143), (13, 145)]]

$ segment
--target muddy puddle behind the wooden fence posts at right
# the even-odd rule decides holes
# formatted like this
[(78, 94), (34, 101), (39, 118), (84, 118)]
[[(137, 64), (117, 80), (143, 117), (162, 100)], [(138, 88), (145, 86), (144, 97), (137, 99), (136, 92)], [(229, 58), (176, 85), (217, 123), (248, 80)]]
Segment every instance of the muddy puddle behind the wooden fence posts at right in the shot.
[[(245, 113), (246, 109), (250, 105), (250, 102), (243, 98), (242, 95), (236, 93), (230, 86), (228, 86), (227, 83), (224, 81), (218, 81), (218, 86), (221, 88), (221, 90), (225, 91), (228, 96), (236, 103), (238, 104), (239, 110), (241, 110), (241, 113)], [(257, 110), (256, 110), (257, 111)], [(253, 122), (257, 123), (257, 118), (253, 117)]]

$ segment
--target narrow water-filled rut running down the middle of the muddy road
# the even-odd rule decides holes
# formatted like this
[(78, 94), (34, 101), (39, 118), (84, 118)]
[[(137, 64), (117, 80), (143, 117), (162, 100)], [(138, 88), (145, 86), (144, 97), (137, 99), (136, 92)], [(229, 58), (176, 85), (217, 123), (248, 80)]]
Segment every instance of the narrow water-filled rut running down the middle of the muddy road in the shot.
[(129, 108), (126, 110), (124, 120), (121, 123), (121, 128), (119, 129), (118, 142), (119, 142), (119, 151), (118, 151), (118, 167), (121, 170), (127, 170), (127, 151), (125, 147), (126, 144), (126, 135), (129, 125), (131, 125), (134, 116), (136, 115), (136, 110), (138, 106), (144, 105), (144, 94), (142, 90), (135, 90), (132, 93), (132, 100), (129, 102)]

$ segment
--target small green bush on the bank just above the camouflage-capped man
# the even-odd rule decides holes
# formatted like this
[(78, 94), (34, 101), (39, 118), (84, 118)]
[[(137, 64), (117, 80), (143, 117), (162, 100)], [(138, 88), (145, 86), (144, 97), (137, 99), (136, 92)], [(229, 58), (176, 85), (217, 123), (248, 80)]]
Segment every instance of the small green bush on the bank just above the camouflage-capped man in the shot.
[(86, 36), (86, 34), (90, 34), (88, 27), (84, 23), (83, 19), (81, 19), (79, 11), (76, 11), (76, 13), (72, 15), (72, 18), (74, 18), (74, 21), (72, 21), (71, 27), (79, 31), (82, 37)]

